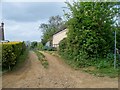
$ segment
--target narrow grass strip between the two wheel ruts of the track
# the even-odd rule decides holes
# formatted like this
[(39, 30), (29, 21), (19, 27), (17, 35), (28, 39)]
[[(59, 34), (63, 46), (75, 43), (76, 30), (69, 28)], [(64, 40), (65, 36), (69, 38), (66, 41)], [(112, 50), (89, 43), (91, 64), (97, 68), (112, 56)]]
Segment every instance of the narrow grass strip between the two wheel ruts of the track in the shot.
[(34, 52), (36, 53), (36, 55), (38, 56), (38, 59), (40, 60), (41, 64), (43, 65), (44, 68), (48, 68), (49, 63), (48, 61), (45, 59), (45, 56), (39, 52), (38, 50), (34, 50)]

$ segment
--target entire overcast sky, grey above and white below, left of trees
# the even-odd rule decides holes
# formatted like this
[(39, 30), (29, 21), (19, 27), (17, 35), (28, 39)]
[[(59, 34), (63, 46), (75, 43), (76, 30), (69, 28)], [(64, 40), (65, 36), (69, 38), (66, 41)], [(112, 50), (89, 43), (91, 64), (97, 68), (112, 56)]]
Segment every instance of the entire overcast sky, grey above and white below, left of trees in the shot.
[[(2, 20), (5, 39), (10, 41), (40, 41), (38, 27), (50, 16), (63, 16), (64, 2), (3, 2)], [(1, 16), (0, 16), (1, 17)]]

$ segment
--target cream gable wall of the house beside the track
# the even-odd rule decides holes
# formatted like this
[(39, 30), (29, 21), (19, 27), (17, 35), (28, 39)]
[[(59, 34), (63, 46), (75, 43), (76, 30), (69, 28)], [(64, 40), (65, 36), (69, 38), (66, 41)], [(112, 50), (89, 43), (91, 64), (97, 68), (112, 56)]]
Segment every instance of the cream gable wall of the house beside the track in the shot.
[(65, 37), (67, 37), (66, 33), (67, 33), (67, 29), (62, 30), (62, 31), (53, 35), (53, 40), (52, 40), (53, 47), (58, 47), (59, 46), (59, 42), (62, 39), (64, 39)]

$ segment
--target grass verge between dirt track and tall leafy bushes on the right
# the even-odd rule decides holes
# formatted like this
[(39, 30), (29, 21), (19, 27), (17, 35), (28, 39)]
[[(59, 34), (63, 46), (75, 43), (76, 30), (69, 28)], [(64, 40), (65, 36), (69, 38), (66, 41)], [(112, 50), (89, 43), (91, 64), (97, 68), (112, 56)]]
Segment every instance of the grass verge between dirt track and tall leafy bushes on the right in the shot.
[(110, 77), (110, 78), (118, 77), (119, 69), (114, 69), (113, 67), (97, 68), (96, 66), (88, 66), (84, 68), (79, 68), (77, 67), (77, 63), (75, 63), (72, 60), (64, 59), (62, 56), (58, 54), (58, 52), (56, 51), (47, 51), (47, 52), (51, 55), (61, 57), (62, 60), (65, 61), (65, 63), (67, 63), (68, 65), (70, 65), (72, 68), (76, 70), (82, 70), (84, 72), (87, 72), (89, 74), (92, 74), (98, 77), (105, 77), (105, 76)]

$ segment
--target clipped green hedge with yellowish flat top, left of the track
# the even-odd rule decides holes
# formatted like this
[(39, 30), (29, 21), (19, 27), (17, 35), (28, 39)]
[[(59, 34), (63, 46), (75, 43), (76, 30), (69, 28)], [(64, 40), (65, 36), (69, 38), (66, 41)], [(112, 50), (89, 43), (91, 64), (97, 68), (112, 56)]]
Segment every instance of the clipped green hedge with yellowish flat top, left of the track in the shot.
[(17, 58), (26, 49), (24, 42), (8, 42), (2, 44), (2, 68), (9, 69), (16, 64)]

